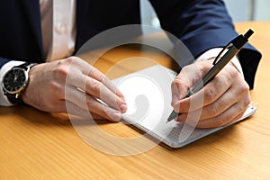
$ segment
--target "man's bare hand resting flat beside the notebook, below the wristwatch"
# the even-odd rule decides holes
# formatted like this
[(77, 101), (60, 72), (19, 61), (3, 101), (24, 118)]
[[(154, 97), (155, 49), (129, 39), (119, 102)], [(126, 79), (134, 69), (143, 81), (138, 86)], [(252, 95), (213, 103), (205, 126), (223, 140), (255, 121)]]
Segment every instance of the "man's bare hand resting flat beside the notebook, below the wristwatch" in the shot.
[[(24, 103), (45, 112), (68, 112), (120, 121), (127, 111), (123, 94), (99, 70), (71, 57), (32, 67)], [(100, 99), (103, 101), (96, 100)], [(106, 103), (106, 104), (104, 104)]]

